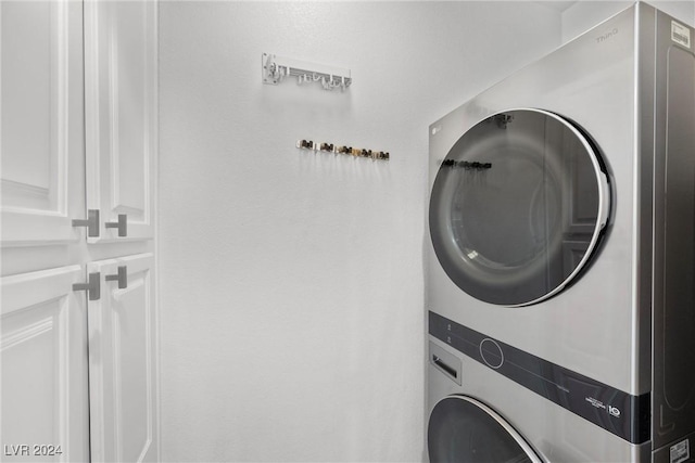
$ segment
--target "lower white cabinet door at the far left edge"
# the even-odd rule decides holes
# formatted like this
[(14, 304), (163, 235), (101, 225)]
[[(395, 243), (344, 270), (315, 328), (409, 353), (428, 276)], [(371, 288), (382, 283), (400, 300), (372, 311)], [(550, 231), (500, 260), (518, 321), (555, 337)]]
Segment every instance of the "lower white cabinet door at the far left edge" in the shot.
[(79, 266), (0, 279), (3, 461), (89, 458), (84, 280)]

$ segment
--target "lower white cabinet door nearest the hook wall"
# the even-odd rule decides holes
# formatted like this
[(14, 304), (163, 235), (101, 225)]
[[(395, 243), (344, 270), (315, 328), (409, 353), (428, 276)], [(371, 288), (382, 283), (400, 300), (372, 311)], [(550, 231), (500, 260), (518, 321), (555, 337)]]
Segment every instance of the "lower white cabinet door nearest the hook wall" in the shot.
[[(159, 459), (153, 262), (141, 254), (88, 265), (102, 283), (88, 303), (92, 462)], [(126, 278), (111, 280), (119, 267)]]

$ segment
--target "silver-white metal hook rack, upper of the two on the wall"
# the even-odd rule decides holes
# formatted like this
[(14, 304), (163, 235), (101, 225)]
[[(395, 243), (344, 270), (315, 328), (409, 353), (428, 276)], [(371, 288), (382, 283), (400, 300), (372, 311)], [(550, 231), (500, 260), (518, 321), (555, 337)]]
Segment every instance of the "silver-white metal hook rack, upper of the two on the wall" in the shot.
[(352, 83), (350, 69), (307, 63), (305, 61), (263, 53), (261, 55), (263, 83), (277, 86), (286, 77), (296, 77), (296, 82), (320, 82), (325, 90), (344, 91)]

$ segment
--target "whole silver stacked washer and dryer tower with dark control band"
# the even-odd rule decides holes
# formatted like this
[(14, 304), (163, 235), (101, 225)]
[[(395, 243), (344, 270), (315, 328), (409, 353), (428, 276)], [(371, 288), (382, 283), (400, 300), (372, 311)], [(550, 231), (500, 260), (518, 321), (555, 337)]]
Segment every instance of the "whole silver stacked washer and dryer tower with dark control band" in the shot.
[(695, 30), (636, 3), (430, 127), (430, 461), (695, 461)]

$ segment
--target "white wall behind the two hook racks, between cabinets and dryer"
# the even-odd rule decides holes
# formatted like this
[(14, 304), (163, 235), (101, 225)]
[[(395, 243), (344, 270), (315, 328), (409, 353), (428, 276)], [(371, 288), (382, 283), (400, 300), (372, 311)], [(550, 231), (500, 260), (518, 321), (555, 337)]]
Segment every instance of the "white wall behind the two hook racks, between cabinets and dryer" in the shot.
[[(160, 27), (164, 460), (420, 460), (428, 125), (555, 48), (559, 12), (161, 2)], [(262, 52), (354, 83), (262, 85)]]

